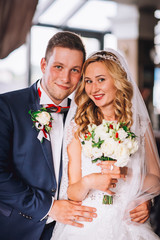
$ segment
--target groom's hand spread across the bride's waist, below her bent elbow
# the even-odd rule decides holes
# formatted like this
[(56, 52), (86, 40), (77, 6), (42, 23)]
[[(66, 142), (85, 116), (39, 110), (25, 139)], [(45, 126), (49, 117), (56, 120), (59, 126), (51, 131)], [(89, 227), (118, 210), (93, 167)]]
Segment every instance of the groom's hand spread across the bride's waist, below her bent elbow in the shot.
[(82, 206), (81, 202), (69, 200), (55, 200), (49, 212), (49, 216), (55, 221), (76, 227), (83, 227), (77, 221), (91, 222), (97, 217), (96, 209)]

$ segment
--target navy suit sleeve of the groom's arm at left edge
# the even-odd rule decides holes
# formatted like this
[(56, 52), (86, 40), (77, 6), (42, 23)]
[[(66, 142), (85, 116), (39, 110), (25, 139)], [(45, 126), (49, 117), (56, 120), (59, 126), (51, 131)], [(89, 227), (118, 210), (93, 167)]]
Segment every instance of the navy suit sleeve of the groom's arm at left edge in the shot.
[(32, 220), (41, 220), (50, 209), (49, 193), (27, 185), (16, 175), (13, 161), (14, 127), (11, 109), (0, 96), (0, 203), (17, 209)]

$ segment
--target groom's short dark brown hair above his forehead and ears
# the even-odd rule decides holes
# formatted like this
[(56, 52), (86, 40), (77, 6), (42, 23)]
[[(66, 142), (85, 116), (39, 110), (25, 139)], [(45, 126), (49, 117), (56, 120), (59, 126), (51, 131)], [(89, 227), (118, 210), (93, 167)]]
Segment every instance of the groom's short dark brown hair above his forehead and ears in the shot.
[(53, 52), (55, 47), (64, 47), (73, 50), (79, 50), (83, 53), (83, 62), (86, 58), (86, 50), (85, 46), (82, 42), (81, 37), (69, 31), (58, 32), (49, 40), (46, 52), (45, 52), (45, 59), (48, 61), (50, 55)]

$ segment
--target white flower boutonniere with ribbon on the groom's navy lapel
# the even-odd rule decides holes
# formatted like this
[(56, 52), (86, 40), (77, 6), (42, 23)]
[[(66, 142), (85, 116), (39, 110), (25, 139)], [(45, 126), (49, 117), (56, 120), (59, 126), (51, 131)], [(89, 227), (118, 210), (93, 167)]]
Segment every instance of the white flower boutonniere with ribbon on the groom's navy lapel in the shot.
[(49, 132), (52, 129), (52, 116), (47, 111), (46, 108), (40, 108), (40, 110), (28, 112), (31, 115), (31, 120), (33, 121), (33, 127), (39, 131), (37, 138), (40, 142), (43, 142), (43, 138), (50, 141)]

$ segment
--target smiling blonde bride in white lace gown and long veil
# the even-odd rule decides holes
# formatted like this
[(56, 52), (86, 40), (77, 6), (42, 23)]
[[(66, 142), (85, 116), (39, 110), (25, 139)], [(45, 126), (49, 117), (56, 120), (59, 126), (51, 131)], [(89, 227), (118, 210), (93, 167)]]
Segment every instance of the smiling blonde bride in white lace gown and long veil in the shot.
[[(92, 54), (86, 60), (75, 103), (78, 109), (74, 104), (74, 119), (64, 138), (60, 199), (83, 201), (84, 205), (97, 208), (98, 216), (92, 222), (85, 222), (83, 228), (57, 223), (51, 239), (160, 239), (149, 222), (134, 223), (129, 215), (136, 206), (160, 193), (160, 164), (145, 104), (124, 58), (118, 52), (107, 49)], [(83, 140), (89, 134), (88, 125), (100, 125), (104, 120), (113, 124), (125, 123), (138, 141), (137, 152), (129, 157), (125, 179), (120, 178), (118, 182), (111, 179), (114, 174), (117, 178), (116, 173), (122, 168), (115, 166), (113, 161), (92, 163), (84, 151)], [(97, 180), (99, 173), (102, 173), (102, 178)], [(104, 176), (108, 177), (106, 181), (110, 181), (111, 189), (99, 189)], [(112, 204), (102, 203), (107, 193), (114, 194)]]

